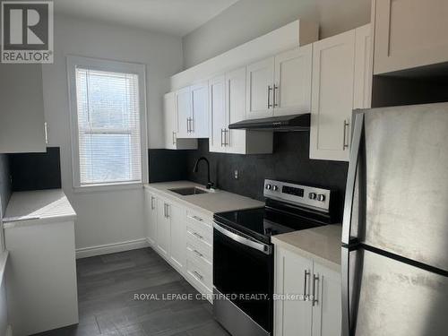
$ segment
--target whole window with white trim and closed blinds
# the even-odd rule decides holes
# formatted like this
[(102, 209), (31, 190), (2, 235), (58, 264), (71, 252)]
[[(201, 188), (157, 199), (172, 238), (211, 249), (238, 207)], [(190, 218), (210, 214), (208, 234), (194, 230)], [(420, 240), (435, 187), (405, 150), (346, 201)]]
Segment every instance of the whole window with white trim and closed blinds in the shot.
[(145, 180), (144, 65), (68, 57), (75, 187)]

